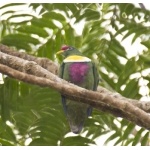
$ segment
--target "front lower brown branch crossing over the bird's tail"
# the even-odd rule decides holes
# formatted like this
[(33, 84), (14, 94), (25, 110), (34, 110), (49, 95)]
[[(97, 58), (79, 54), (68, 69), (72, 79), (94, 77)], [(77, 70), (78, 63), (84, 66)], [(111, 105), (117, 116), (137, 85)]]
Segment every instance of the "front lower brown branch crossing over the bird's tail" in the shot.
[[(86, 89), (77, 87), (76, 85), (72, 85), (71, 83), (62, 84), (62, 83), (59, 83), (59, 81), (55, 82), (55, 81), (52, 81), (52, 80), (49, 80), (46, 78), (35, 77), (33, 75), (19, 72), (17, 70), (14, 70), (12, 68), (9, 68), (9, 67), (7, 67), (5, 65), (1, 65), (1, 64), (0, 64), (0, 72), (7, 74), (13, 78), (17, 78), (21, 81), (27, 82), (27, 83), (36, 84), (36, 85), (40, 85), (43, 87), (52, 87), (52, 88), (56, 89), (57, 91), (63, 93), (65, 96), (67, 96), (68, 98), (70, 98), (72, 100), (78, 100), (83, 103), (88, 103), (91, 106), (93, 106), (101, 111), (109, 112), (117, 117), (122, 117), (122, 118), (128, 119), (128, 120), (132, 121), (133, 123), (135, 123), (139, 126), (145, 127), (147, 129), (149, 129), (149, 127), (150, 127), (150, 125), (149, 125), (150, 117), (147, 118), (148, 114), (146, 114), (145, 112), (142, 112), (138, 108), (134, 108), (134, 110), (131, 111), (131, 113), (132, 112), (134, 112), (134, 113), (130, 114), (130, 111), (126, 111), (126, 110), (128, 110), (129, 107), (131, 107), (131, 109), (132, 109), (134, 106), (132, 106), (131, 104), (128, 104), (128, 103), (126, 103), (126, 105), (125, 105), (126, 107), (123, 106), (124, 103), (122, 104), (123, 111), (121, 109), (115, 109), (115, 108), (109, 106), (109, 103), (107, 104), (107, 102), (105, 102), (105, 101), (110, 101), (110, 100), (114, 101), (114, 100), (110, 97), (107, 97), (103, 93), (100, 94), (98, 92), (88, 91)], [(69, 90), (69, 88), (71, 88), (71, 89)], [(75, 95), (74, 95), (74, 92), (76, 93)], [(88, 97), (88, 96), (90, 96), (90, 97)], [(91, 97), (92, 97), (92, 99), (91, 99)], [(101, 100), (104, 103), (101, 102)], [(138, 117), (137, 115), (139, 113), (138, 112), (135, 113), (135, 111), (141, 111), (141, 112), (139, 112), (140, 114), (144, 113), (144, 119), (143, 119), (143, 114), (141, 114), (142, 118), (140, 118), (141, 115), (140, 115), (140, 117)], [(137, 115), (134, 115), (134, 114), (137, 114)], [(144, 122), (145, 119), (146, 119), (146, 123)]]

